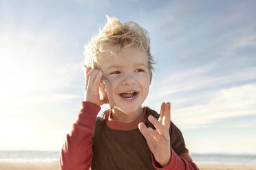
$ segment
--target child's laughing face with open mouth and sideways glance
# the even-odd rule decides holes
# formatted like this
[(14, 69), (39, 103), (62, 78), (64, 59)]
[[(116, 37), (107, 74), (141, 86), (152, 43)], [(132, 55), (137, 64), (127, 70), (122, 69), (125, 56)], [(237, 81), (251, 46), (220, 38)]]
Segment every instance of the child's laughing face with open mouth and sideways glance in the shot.
[(109, 52), (100, 55), (103, 60), (99, 69), (103, 70), (103, 78), (109, 82), (109, 99), (114, 109), (126, 114), (138, 112), (151, 83), (147, 53), (131, 46), (118, 52), (118, 57)]

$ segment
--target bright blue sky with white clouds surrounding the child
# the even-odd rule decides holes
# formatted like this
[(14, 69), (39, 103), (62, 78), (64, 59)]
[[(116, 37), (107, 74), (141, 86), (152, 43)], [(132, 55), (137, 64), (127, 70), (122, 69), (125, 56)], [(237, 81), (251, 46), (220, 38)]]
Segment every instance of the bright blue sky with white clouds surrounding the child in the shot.
[(61, 149), (83, 101), (83, 45), (107, 14), (149, 32), (144, 105), (171, 102), (191, 153), (256, 154), (255, 5), (0, 0), (0, 150)]

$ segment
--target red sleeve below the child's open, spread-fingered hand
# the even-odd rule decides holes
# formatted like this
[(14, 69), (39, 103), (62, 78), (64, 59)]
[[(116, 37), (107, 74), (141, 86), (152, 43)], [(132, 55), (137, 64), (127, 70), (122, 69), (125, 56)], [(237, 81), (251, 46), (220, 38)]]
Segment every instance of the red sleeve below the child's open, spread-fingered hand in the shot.
[(175, 151), (171, 148), (171, 160), (169, 164), (165, 167), (160, 167), (159, 163), (156, 162), (155, 157), (151, 154), (153, 167), (155, 169), (162, 169), (162, 170), (171, 170), (171, 169), (179, 169), (179, 170), (199, 170), (198, 167), (195, 165), (194, 162), (188, 162), (178, 156)]

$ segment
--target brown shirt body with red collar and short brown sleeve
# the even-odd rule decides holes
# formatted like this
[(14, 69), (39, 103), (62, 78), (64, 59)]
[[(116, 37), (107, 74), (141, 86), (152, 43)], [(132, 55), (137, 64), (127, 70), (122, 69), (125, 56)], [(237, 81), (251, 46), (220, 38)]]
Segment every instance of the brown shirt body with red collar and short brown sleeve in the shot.
[[(109, 121), (111, 112), (103, 112), (97, 117), (93, 137), (92, 169), (155, 169), (151, 161), (151, 151), (144, 136), (138, 130), (138, 123), (145, 122), (147, 127), (156, 129), (147, 117), (158, 119), (159, 114), (148, 107), (144, 113), (131, 123)], [(122, 128), (118, 128), (122, 127)], [(134, 127), (134, 128), (131, 128)], [(172, 122), (169, 129), (171, 147), (176, 154), (188, 152), (182, 133)]]

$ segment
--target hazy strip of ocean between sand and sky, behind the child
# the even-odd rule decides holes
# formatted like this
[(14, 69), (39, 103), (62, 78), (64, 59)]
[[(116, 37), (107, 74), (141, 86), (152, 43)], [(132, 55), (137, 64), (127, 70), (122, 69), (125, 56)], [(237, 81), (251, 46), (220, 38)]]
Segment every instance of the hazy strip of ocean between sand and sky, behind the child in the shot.
[[(0, 162), (58, 162), (60, 151), (0, 151)], [(256, 166), (256, 155), (191, 154), (197, 165)]]

